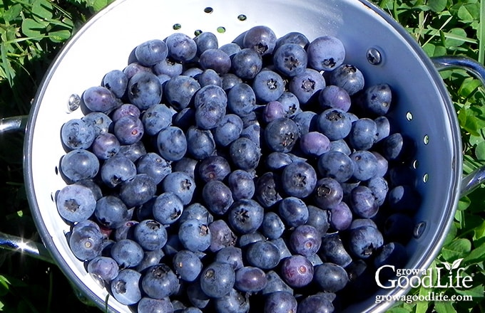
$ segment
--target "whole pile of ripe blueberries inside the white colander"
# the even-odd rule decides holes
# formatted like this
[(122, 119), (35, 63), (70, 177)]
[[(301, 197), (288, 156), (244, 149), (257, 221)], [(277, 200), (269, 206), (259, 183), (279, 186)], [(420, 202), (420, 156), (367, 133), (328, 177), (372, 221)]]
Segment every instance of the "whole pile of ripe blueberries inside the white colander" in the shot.
[(334, 36), (267, 26), (136, 46), (61, 128), (73, 255), (138, 312), (367, 299), (377, 268), (406, 264), (420, 195), (391, 86), (344, 61)]

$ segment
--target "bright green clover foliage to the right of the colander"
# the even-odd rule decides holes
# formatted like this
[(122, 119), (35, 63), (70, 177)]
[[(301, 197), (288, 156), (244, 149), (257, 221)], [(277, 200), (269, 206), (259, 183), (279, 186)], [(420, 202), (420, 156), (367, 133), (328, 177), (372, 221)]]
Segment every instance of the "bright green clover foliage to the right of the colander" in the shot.
[[(430, 56), (466, 55), (484, 63), (485, 4), (478, 0), (383, 0), (376, 1), (389, 12)], [(485, 89), (481, 81), (464, 70), (441, 73), (448, 86), (451, 100), (461, 127), (464, 174), (485, 166)], [(398, 303), (389, 312), (484, 312), (485, 261), (485, 193), (481, 187), (461, 198), (454, 223), (441, 253), (431, 268), (442, 262), (461, 262), (466, 274), (473, 277), (471, 288), (421, 287), (410, 295), (469, 295), (473, 302), (413, 302)]]

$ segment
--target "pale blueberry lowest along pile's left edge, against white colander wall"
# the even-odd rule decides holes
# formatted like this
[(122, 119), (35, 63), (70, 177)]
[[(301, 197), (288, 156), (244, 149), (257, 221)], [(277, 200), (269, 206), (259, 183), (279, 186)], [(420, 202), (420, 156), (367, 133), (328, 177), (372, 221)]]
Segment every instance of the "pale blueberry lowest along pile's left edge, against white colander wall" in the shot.
[(121, 304), (136, 304), (141, 299), (141, 290), (138, 284), (141, 274), (136, 270), (121, 270), (114, 280), (111, 281), (111, 292)]

